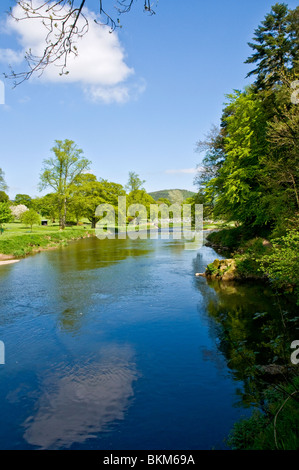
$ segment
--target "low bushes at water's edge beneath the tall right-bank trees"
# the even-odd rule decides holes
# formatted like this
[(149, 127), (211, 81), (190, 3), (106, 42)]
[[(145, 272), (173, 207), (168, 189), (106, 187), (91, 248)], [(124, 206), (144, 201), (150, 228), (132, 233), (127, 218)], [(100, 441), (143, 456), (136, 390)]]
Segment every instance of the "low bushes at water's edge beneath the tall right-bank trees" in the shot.
[(283, 236), (254, 236), (242, 227), (212, 232), (212, 246), (228, 259), (209, 264), (205, 276), (223, 281), (264, 279), (279, 292), (294, 294), (299, 305), (299, 231)]

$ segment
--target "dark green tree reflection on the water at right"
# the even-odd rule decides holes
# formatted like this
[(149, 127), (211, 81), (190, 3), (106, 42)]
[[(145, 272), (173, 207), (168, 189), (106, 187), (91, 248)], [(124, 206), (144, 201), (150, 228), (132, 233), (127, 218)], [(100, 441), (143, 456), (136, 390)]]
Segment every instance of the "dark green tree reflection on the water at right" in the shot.
[(287, 366), (278, 380), (291, 379), (295, 372), (290, 363), (290, 345), (298, 335), (295, 300), (274, 296), (261, 281), (207, 285), (213, 289), (205, 295), (211, 330), (234, 379), (243, 383), (240, 401), (244, 406), (260, 405), (261, 392), (275, 380), (261, 374), (261, 366)]

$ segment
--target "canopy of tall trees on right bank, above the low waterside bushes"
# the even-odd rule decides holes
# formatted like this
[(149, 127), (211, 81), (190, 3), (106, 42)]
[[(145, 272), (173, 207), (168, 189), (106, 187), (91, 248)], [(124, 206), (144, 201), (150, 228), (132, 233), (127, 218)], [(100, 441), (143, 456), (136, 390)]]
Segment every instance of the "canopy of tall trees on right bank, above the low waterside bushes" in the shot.
[[(196, 149), (204, 152), (195, 182), (214, 217), (268, 231), (299, 214), (299, 9), (272, 7), (250, 46), (256, 81), (226, 96), (220, 128)], [(280, 227), (280, 228), (279, 228)]]

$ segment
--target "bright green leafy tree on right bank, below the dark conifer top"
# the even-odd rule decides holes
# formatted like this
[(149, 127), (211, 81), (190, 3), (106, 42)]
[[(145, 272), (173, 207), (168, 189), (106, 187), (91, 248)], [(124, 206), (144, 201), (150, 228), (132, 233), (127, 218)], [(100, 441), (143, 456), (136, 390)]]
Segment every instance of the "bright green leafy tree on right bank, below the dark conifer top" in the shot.
[(251, 89), (228, 98), (223, 117), (225, 160), (216, 177), (207, 182), (206, 195), (215, 205), (215, 216), (262, 225), (269, 222), (261, 205), (260, 184), (261, 158), (267, 152), (267, 116)]

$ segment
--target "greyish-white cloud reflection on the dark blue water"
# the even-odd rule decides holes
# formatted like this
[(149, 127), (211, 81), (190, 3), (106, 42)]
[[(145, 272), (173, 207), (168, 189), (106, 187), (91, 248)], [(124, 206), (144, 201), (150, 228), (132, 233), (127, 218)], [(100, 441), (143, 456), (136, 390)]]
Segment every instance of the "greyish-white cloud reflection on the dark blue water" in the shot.
[(124, 418), (137, 379), (133, 351), (110, 345), (100, 356), (46, 376), (37, 411), (24, 423), (29, 444), (68, 448)]

